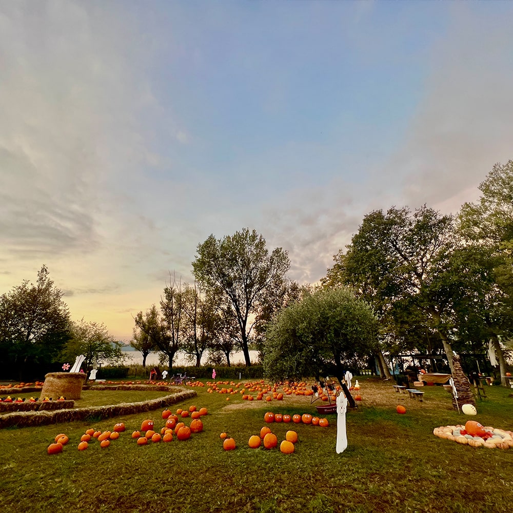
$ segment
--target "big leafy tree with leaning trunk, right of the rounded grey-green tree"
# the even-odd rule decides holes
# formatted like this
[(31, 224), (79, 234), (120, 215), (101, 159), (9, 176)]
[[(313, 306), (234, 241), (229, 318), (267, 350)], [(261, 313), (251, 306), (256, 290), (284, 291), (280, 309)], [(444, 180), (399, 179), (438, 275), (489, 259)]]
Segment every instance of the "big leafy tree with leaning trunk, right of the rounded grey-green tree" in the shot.
[(387, 302), (402, 305), (438, 333), (451, 369), (449, 318), (455, 294), (462, 293), (458, 279), (447, 279), (455, 244), (452, 216), (425, 205), (413, 213), (392, 207), (365, 216), (344, 258), (354, 284), (376, 295), (382, 313)]

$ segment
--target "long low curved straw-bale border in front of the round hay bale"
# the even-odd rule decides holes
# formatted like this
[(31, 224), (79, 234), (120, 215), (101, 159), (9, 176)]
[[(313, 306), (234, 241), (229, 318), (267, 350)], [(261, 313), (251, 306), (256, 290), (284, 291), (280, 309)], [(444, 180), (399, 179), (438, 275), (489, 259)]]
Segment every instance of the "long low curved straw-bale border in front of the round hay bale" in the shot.
[[(172, 387), (165, 388), (169, 389)], [(94, 387), (94, 389), (96, 389), (96, 387)], [(127, 389), (133, 390), (134, 388), (128, 386)], [(142, 389), (148, 390), (152, 388), (143, 387)], [(156, 389), (160, 390), (161, 388), (157, 387)], [(174, 389), (176, 389), (176, 387), (174, 387)], [(171, 404), (179, 403), (186, 399), (195, 397), (196, 395), (197, 394), (194, 390), (186, 389), (177, 393), (169, 394), (165, 397), (137, 403), (120, 403), (112, 404), (109, 406), (92, 406), (89, 408), (62, 409), (55, 411), (38, 410), (7, 413), (6, 415), (0, 417), (0, 429), (6, 427), (29, 427), (42, 426), (46, 424), (58, 424), (63, 422), (74, 422), (87, 420), (90, 417), (94, 417), (95, 419), (108, 419), (121, 415), (133, 415), (134, 413), (156, 410)]]

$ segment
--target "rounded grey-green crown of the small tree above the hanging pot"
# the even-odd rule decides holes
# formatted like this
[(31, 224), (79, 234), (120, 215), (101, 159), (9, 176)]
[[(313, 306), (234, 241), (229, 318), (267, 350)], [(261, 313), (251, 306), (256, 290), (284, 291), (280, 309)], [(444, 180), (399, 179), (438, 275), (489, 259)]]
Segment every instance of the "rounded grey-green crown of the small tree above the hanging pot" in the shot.
[(336, 376), (342, 382), (376, 350), (377, 319), (347, 288), (318, 289), (270, 322), (264, 369), (273, 379)]

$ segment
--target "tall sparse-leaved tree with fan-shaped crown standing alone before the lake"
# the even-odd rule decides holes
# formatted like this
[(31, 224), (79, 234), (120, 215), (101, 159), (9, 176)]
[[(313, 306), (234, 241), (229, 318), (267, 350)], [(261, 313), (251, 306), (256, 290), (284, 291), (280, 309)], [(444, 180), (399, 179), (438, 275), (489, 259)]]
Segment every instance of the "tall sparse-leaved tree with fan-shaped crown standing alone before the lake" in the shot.
[(194, 276), (208, 288), (218, 288), (226, 295), (233, 307), (240, 346), (249, 366), (249, 338), (255, 316), (269, 300), (276, 284), (285, 280), (290, 267), (287, 252), (275, 248), (269, 253), (263, 236), (247, 228), (219, 240), (210, 235), (196, 251), (198, 254), (192, 262)]

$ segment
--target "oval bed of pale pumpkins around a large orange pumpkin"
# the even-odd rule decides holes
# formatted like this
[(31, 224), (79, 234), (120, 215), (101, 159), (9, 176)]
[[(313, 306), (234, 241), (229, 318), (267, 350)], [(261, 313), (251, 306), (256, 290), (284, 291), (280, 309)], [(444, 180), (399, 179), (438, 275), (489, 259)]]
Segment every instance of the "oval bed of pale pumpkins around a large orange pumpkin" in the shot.
[(452, 440), (470, 447), (487, 447), (509, 449), (513, 447), (513, 432), (483, 426), (477, 421), (469, 420), (464, 426), (440, 426), (433, 429), (433, 435)]

